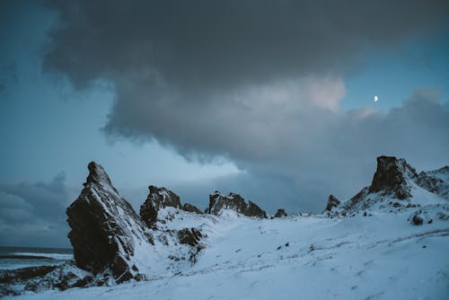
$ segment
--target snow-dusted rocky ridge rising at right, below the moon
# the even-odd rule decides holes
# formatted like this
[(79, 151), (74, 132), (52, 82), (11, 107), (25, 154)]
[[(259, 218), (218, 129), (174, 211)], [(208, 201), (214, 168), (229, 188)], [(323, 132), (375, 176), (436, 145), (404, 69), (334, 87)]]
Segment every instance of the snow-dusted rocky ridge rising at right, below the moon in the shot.
[(343, 203), (330, 195), (325, 212), (337, 216), (359, 213), (366, 216), (366, 211), (370, 210), (401, 212), (409, 209), (409, 222), (415, 225), (432, 222), (435, 218), (446, 219), (449, 218), (448, 171), (446, 166), (418, 174), (402, 158), (379, 156), (371, 184)]

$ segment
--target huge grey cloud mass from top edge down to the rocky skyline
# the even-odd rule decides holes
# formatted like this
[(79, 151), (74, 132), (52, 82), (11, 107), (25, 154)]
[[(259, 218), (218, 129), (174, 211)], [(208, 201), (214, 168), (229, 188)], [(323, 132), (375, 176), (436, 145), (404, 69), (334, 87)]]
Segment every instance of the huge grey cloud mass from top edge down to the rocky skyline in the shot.
[(188, 158), (225, 155), (247, 172), (252, 199), (264, 192), (250, 186), (272, 188), (319, 210), (329, 192), (367, 184), (376, 155), (418, 168), (447, 161), (449, 112), (434, 90), (387, 113), (339, 109), (343, 76), (372, 51), (435, 31), (446, 1), (50, 5), (61, 22), (45, 66), (78, 87), (114, 85), (110, 136), (156, 139)]

